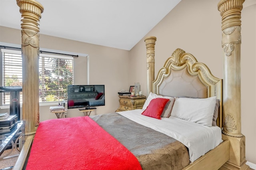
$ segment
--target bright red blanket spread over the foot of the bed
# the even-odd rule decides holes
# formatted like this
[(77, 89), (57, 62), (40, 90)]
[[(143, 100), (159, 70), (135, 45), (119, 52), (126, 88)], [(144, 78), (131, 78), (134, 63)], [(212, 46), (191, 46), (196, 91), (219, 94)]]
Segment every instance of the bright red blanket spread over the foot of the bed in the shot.
[(40, 123), (26, 170), (141, 170), (137, 158), (90, 117)]

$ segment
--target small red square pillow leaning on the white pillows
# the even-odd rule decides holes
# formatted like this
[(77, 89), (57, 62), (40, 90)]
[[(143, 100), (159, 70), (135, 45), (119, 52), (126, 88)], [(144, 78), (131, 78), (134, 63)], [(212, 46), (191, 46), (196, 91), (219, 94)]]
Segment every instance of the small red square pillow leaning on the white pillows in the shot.
[(161, 119), (162, 112), (168, 101), (170, 101), (170, 99), (164, 99), (164, 98), (152, 99), (147, 109), (142, 112), (142, 115), (153, 117), (156, 119)]

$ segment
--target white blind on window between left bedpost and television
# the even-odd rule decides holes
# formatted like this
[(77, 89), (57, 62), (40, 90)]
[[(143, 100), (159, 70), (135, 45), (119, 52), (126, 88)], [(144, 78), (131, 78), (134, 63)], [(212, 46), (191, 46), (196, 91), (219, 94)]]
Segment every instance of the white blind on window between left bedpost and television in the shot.
[(67, 85), (73, 85), (73, 57), (40, 54), (40, 102), (67, 100)]

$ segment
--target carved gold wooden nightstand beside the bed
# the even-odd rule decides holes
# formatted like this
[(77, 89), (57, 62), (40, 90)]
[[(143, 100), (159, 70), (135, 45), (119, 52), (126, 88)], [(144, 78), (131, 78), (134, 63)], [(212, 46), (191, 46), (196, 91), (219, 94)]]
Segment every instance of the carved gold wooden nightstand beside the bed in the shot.
[(120, 107), (116, 110), (116, 112), (142, 109), (146, 101), (146, 96), (130, 97), (130, 96), (119, 95), (118, 97), (119, 97)]

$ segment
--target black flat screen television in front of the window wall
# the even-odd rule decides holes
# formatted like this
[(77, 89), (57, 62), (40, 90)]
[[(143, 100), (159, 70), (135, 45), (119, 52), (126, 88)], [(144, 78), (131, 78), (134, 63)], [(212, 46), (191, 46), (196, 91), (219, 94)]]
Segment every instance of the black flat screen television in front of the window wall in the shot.
[(105, 85), (68, 85), (68, 109), (105, 105)]

